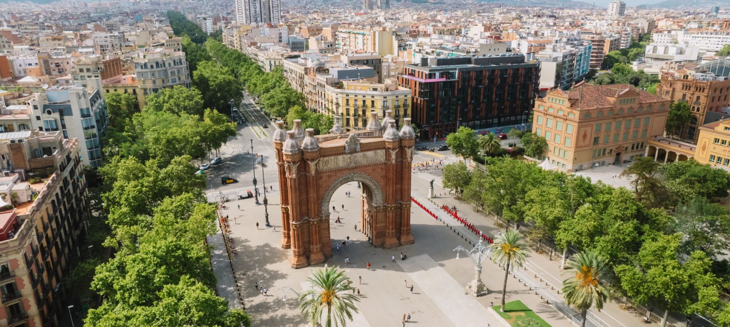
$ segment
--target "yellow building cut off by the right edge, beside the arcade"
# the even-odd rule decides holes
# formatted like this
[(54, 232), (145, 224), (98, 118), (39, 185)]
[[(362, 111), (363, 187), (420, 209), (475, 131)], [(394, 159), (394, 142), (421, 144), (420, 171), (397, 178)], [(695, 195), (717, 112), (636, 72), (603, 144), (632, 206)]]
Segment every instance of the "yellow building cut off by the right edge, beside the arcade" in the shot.
[(701, 164), (730, 170), (730, 119), (699, 126), (694, 159)]

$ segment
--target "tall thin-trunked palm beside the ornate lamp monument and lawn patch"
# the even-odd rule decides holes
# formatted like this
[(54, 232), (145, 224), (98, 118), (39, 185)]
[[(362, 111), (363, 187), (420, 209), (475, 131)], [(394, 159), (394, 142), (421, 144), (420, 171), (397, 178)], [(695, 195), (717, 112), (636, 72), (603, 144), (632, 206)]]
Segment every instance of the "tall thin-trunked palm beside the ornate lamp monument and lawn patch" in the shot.
[(492, 249), (492, 260), (504, 266), (504, 284), (502, 285), (502, 307), (499, 311), (504, 312), (504, 298), (507, 294), (507, 277), (510, 277), (510, 266), (522, 266), (530, 249), (525, 243), (525, 236), (518, 231), (510, 230), (507, 233), (497, 236)]

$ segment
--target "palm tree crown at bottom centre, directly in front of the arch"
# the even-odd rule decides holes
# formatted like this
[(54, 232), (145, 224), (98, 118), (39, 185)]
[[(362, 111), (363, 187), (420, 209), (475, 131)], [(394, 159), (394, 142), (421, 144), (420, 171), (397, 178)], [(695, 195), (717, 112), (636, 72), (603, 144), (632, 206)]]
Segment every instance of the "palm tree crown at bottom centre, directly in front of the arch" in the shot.
[[(345, 318), (353, 320), (353, 312), (358, 308), (354, 302), (360, 301), (354, 294), (350, 277), (335, 266), (324, 266), (312, 273), (307, 279), (312, 288), (299, 294), (301, 314), (310, 320), (311, 326), (319, 326), (322, 315), (326, 315), (325, 326), (345, 326)], [(334, 316), (334, 319), (333, 319)]]

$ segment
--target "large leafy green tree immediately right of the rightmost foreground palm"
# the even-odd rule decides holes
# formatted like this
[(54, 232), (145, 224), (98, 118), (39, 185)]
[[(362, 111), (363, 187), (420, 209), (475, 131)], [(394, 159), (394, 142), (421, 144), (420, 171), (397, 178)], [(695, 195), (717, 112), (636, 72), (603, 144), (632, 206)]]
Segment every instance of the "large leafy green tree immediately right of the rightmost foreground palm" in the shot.
[(664, 310), (659, 326), (665, 326), (670, 311), (707, 315), (721, 305), (717, 280), (710, 272), (710, 259), (695, 251), (680, 263), (677, 258), (680, 239), (679, 234), (648, 239), (634, 265), (615, 268), (627, 296), (639, 304)]

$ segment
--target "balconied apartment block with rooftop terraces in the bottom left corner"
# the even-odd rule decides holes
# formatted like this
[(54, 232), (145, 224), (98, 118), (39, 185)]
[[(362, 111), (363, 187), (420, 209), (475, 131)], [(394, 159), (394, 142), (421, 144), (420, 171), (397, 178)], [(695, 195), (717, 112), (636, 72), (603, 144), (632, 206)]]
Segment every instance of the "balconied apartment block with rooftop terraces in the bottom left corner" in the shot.
[(59, 289), (87, 219), (78, 145), (60, 131), (0, 134), (0, 194), (11, 203), (0, 212), (0, 326), (58, 326), (68, 315)]

